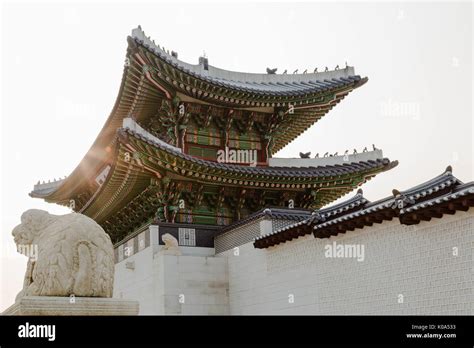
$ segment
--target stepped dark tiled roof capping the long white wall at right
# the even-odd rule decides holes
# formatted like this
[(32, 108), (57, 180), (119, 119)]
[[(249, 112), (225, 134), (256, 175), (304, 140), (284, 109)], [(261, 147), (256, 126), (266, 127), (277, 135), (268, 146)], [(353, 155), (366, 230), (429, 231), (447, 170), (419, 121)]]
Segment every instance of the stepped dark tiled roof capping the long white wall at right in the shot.
[(472, 206), (474, 182), (463, 184), (452, 175), (449, 166), (429, 181), (408, 190), (393, 190), (392, 196), (376, 202), (363, 198), (359, 190), (345, 202), (315, 211), (303, 221), (257, 238), (254, 246), (268, 248), (309, 233), (316, 238), (328, 238), (393, 218), (398, 218), (401, 224), (412, 225), (455, 214), (458, 210), (467, 211)]

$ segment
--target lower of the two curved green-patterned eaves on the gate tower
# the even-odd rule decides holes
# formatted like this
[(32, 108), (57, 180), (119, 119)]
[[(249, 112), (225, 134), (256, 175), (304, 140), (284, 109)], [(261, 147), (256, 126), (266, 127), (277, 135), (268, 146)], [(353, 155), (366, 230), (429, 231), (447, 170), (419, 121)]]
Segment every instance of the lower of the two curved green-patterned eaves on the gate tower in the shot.
[[(81, 211), (104, 221), (130, 202), (150, 183), (164, 176), (206, 185), (239, 186), (256, 190), (320, 192), (314, 197), (325, 205), (354, 187), (397, 165), (386, 158), (377, 161), (321, 167), (245, 167), (201, 160), (174, 151), (130, 129), (120, 129), (116, 161), (106, 182)], [(130, 159), (124, 154), (128, 152)], [(137, 153), (137, 156), (132, 154)], [(319, 202), (320, 201), (320, 202)]]

